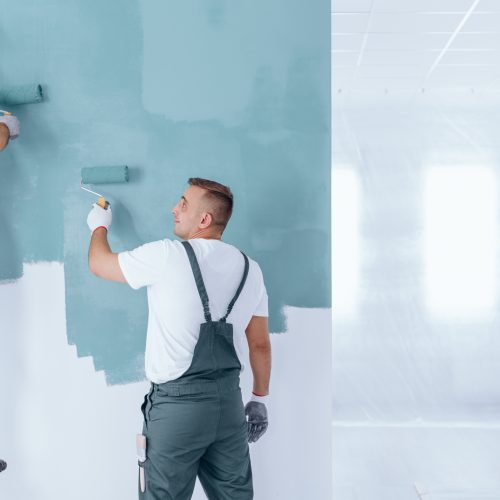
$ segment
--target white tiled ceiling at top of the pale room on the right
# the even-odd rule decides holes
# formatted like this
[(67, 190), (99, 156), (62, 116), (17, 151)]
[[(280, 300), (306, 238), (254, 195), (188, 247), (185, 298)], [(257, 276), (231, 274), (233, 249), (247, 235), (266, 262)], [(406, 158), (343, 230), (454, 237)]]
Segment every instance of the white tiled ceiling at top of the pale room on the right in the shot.
[(332, 0), (335, 90), (500, 88), (500, 0)]

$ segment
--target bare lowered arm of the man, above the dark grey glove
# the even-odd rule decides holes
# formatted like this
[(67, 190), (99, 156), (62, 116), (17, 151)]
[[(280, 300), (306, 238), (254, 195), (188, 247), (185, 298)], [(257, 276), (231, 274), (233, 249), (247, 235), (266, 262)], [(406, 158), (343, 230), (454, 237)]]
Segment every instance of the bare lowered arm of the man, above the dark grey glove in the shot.
[(266, 396), (269, 394), (271, 378), (271, 342), (267, 316), (252, 316), (245, 333), (253, 373), (253, 392)]

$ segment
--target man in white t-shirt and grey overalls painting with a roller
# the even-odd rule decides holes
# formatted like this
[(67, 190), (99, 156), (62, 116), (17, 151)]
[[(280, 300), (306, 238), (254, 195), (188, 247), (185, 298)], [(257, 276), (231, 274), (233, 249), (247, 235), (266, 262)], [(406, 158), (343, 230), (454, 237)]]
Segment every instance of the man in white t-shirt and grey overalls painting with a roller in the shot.
[[(231, 190), (200, 178), (188, 183), (172, 209), (182, 242), (164, 239), (113, 253), (111, 208), (94, 205), (87, 218), (89, 267), (134, 289), (147, 286), (151, 389), (141, 406), (146, 453), (139, 498), (190, 499), (198, 476), (209, 499), (251, 499), (248, 443), (268, 425), (268, 297), (259, 265), (221, 239), (233, 210)], [(243, 407), (245, 340), (253, 394)]]

